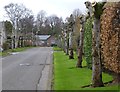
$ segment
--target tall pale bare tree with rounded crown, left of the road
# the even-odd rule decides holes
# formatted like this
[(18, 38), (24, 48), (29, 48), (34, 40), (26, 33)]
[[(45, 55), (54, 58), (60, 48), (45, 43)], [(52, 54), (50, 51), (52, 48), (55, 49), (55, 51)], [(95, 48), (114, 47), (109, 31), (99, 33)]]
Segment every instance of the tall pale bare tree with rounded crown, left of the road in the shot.
[(16, 48), (18, 45), (17, 31), (18, 31), (19, 20), (22, 17), (27, 16), (30, 11), (22, 4), (18, 5), (18, 4), (10, 3), (9, 5), (6, 5), (4, 8), (13, 25), (12, 48)]

